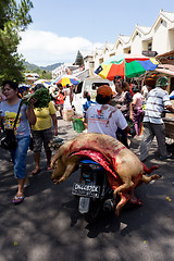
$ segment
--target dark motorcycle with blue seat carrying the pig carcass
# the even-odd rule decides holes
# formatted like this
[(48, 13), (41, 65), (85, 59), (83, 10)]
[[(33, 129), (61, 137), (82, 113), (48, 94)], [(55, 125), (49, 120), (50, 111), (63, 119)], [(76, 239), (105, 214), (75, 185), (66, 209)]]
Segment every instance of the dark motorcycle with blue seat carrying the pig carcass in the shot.
[(72, 194), (79, 198), (78, 211), (88, 223), (95, 223), (101, 211), (112, 211), (114, 200), (105, 170), (97, 162), (82, 159), (78, 163), (79, 183), (74, 183)]

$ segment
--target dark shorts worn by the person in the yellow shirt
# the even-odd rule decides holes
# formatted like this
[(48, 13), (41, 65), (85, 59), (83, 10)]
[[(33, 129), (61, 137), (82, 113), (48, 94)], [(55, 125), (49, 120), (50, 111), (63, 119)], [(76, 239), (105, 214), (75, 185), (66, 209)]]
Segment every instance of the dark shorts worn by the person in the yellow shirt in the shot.
[(44, 129), (44, 130), (32, 130), (32, 135), (33, 135), (35, 153), (41, 152), (42, 144), (45, 147), (45, 151), (46, 152), (50, 151), (48, 144), (50, 142), (50, 140), (53, 137), (52, 127)]

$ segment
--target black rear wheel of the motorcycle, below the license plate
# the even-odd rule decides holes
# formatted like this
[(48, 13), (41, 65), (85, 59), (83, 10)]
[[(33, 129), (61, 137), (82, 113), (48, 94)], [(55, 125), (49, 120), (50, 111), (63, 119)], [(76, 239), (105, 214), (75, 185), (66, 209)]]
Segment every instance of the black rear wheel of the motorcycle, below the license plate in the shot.
[(89, 204), (89, 211), (84, 214), (85, 220), (90, 224), (96, 223), (101, 212), (101, 209), (102, 209), (101, 207), (102, 207), (102, 202), (100, 201), (100, 199), (91, 198), (90, 204)]

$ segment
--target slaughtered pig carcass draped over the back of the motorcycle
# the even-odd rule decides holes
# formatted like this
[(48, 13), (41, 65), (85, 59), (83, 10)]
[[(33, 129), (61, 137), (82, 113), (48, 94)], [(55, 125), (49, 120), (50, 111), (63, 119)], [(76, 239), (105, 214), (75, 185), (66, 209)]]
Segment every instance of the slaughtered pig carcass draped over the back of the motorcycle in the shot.
[(58, 149), (51, 162), (53, 182), (55, 184), (64, 182), (84, 157), (98, 162), (107, 170), (113, 196), (116, 197), (119, 194), (121, 197), (115, 208), (116, 215), (130, 199), (130, 194), (137, 186), (161, 177), (157, 174), (146, 176), (159, 166), (148, 169), (136, 154), (115, 138), (105, 134), (88, 133), (64, 142)]

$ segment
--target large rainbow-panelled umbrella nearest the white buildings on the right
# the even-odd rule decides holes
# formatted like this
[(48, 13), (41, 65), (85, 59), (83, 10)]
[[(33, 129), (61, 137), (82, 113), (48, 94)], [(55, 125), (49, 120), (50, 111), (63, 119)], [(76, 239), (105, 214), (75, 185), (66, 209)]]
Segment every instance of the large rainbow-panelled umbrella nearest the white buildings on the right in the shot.
[(158, 66), (154, 58), (138, 54), (117, 54), (100, 64), (95, 71), (102, 78), (113, 80), (115, 75), (128, 78), (139, 77), (146, 71), (153, 71)]

